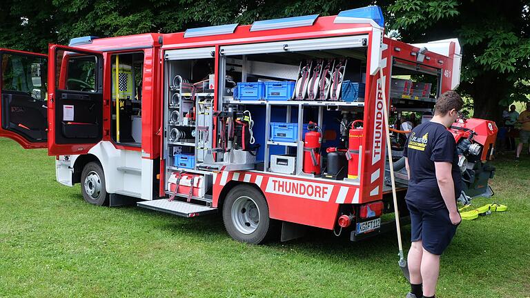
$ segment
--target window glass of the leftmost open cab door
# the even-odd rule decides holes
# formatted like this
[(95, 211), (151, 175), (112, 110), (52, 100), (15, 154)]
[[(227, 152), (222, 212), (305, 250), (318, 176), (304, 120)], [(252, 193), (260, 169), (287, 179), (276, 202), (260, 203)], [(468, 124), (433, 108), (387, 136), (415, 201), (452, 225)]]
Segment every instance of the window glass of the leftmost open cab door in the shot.
[(38, 101), (47, 99), (46, 58), (26, 54), (2, 54), (2, 90), (21, 92)]

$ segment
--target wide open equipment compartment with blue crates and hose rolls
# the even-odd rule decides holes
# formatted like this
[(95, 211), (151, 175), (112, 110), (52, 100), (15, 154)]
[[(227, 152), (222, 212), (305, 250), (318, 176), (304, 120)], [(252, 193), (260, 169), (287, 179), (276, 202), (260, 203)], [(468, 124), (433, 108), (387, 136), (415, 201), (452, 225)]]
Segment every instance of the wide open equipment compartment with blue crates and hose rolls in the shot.
[[(334, 175), (326, 175), (326, 149), (340, 149), (331, 152), (341, 152), (345, 159), (351, 123), (364, 118), (367, 39), (355, 35), (220, 48), (219, 78), (226, 80), (219, 79), (219, 107), (251, 112), (253, 138), (260, 146), (257, 170), (359, 183), (347, 178), (347, 162), (340, 163), (343, 169), (334, 170)], [(354, 85), (355, 95), (348, 90), (344, 97), (345, 87)], [(304, 170), (311, 156), (304, 150), (310, 122), (317, 123), (322, 139), (310, 152), (318, 168), (313, 172)], [(357, 172), (360, 156), (357, 150)]]

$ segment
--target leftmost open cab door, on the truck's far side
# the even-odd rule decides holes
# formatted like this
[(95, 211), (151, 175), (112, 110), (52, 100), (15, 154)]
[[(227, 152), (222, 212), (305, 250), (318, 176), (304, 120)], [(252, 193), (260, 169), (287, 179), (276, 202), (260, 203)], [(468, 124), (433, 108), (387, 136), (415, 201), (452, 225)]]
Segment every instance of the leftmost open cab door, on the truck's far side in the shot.
[(0, 137), (48, 147), (46, 54), (0, 49)]

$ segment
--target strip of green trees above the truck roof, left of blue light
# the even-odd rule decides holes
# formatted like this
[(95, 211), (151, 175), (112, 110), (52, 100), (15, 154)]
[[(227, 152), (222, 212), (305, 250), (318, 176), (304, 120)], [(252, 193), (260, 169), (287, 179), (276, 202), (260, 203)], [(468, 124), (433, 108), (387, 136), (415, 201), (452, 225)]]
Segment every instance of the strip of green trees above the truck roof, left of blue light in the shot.
[(336, 14), (373, 1), (314, 0), (3, 0), (0, 46), (46, 52), (72, 37), (113, 37), (304, 14)]

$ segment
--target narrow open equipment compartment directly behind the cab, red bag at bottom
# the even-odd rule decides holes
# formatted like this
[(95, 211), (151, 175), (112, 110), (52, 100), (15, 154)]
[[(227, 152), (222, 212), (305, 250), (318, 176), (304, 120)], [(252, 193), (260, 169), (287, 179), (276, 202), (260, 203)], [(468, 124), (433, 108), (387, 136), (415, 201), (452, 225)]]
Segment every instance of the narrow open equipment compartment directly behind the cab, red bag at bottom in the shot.
[(212, 201), (213, 173), (198, 166), (213, 146), (214, 53), (208, 47), (164, 54), (164, 188), (188, 201)]

